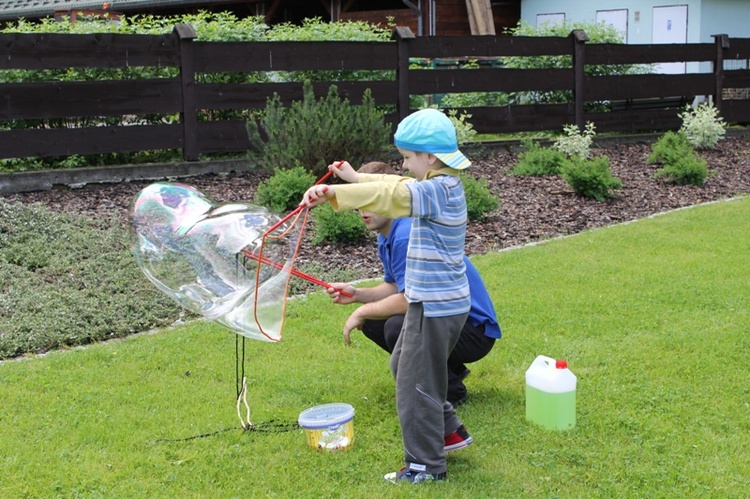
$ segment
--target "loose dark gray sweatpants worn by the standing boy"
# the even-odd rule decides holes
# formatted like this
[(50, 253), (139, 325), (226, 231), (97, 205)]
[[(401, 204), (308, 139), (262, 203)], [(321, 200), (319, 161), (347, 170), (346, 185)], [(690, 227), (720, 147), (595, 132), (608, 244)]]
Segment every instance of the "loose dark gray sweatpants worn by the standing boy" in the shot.
[(461, 426), (446, 401), (447, 361), (468, 313), (425, 317), (421, 303), (410, 303), (391, 356), (396, 379), (396, 407), (407, 468), (443, 473), (445, 436)]

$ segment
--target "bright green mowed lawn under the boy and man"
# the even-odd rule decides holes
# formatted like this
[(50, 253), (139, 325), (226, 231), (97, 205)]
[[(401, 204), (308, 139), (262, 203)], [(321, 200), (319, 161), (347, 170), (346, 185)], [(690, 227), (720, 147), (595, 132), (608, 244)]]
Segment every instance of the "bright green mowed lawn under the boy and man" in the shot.
[[(240, 429), (236, 337), (198, 321), (0, 364), (0, 496), (746, 496), (750, 198), (473, 261), (505, 336), (470, 366), (475, 444), (447, 482), (383, 481), (402, 460), (387, 356), (359, 333), (345, 346), (351, 308), (314, 293), (290, 301), (280, 343), (245, 344), (251, 419), (350, 403), (348, 451)], [(537, 355), (578, 376), (571, 430), (525, 419)]]

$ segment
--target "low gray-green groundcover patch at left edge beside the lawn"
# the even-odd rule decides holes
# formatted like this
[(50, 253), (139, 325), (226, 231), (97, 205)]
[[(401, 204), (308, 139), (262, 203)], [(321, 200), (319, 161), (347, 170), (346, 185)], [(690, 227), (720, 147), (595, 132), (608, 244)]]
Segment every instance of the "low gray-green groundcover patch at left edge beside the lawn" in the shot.
[(166, 326), (182, 314), (143, 276), (129, 235), (0, 199), (0, 359)]

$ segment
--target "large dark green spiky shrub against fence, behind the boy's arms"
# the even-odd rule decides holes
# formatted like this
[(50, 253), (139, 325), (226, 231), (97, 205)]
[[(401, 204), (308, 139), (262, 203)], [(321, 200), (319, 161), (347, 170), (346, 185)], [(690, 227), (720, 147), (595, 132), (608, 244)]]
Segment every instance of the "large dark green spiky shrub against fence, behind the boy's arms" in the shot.
[[(260, 137), (260, 128), (267, 140)], [(352, 106), (331, 85), (328, 95), (315, 99), (312, 84), (305, 83), (302, 101), (284, 107), (278, 94), (268, 100), (260, 125), (248, 122), (248, 137), (261, 151), (269, 169), (297, 165), (321, 176), (333, 161), (346, 158), (352, 164), (377, 155), (390, 142), (391, 127), (378, 110), (369, 89), (362, 104)]]

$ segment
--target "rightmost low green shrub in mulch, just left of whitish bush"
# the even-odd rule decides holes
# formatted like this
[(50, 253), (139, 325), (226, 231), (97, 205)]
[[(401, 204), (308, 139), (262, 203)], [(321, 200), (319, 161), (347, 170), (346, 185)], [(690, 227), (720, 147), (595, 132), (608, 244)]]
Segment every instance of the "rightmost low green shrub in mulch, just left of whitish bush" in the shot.
[(683, 132), (669, 131), (651, 146), (649, 163), (660, 163), (662, 169), (654, 174), (677, 185), (701, 186), (709, 175), (706, 160), (700, 158)]

